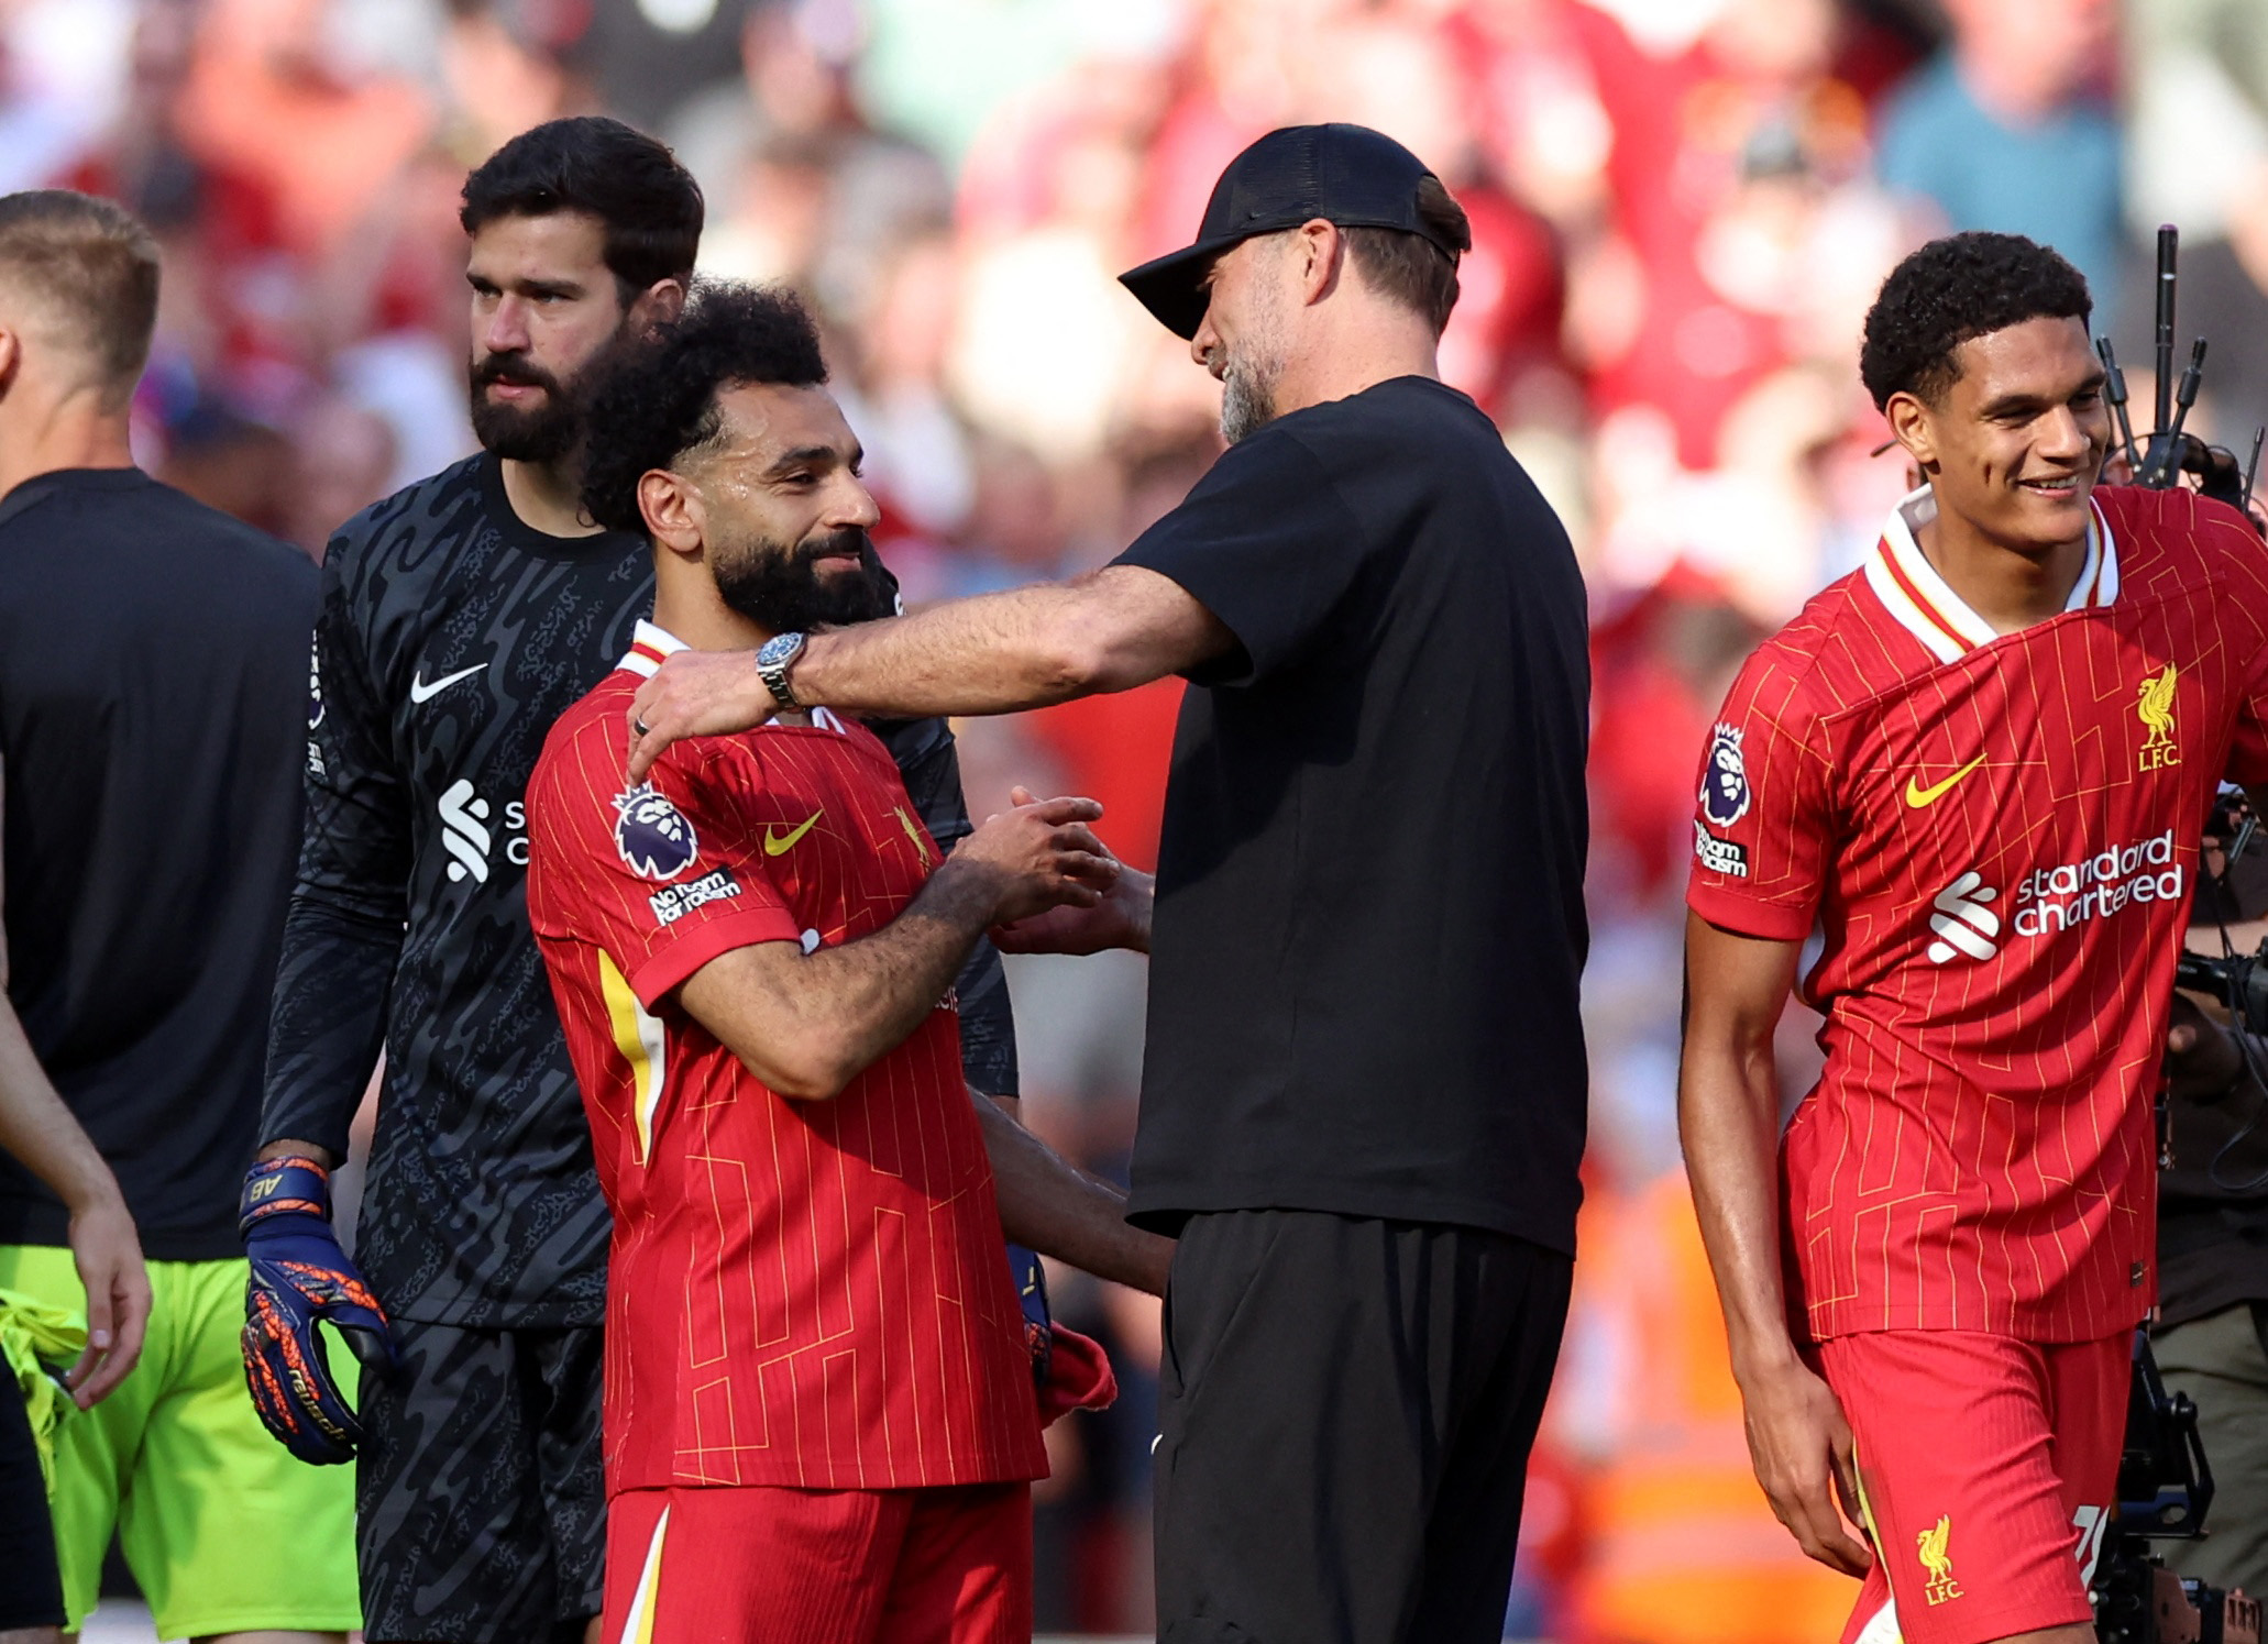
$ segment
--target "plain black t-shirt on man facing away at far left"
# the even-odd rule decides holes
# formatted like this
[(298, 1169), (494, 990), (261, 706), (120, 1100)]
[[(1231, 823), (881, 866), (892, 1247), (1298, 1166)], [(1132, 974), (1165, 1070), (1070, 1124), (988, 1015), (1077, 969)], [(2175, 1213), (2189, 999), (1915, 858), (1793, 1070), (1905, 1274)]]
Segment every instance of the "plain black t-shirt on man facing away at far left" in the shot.
[[(315, 567), (138, 469), (0, 501), (7, 993), (156, 1261), (240, 1256)], [(0, 1154), (0, 1243), (64, 1206)]]

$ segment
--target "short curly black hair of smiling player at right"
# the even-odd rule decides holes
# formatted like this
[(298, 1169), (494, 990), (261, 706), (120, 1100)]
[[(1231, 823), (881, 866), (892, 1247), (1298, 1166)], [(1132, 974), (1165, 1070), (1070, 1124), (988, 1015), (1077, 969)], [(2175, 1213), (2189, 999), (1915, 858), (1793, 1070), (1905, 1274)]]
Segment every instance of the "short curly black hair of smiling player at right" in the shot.
[(1907, 256), (1867, 311), (1857, 374), (1880, 410), (1892, 395), (1935, 401), (1962, 374), (1953, 351), (2025, 320), (2093, 313), (2087, 277), (2021, 234), (1948, 234)]

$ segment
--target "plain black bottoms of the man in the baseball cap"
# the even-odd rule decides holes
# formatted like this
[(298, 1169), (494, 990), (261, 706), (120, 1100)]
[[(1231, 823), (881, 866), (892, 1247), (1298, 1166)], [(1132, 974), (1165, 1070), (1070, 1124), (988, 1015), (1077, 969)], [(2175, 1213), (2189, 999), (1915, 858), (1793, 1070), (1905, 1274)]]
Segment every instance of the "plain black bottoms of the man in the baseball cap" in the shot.
[(1472, 1227), (1193, 1215), (1159, 1370), (1159, 1644), (1497, 1644), (1572, 1272)]

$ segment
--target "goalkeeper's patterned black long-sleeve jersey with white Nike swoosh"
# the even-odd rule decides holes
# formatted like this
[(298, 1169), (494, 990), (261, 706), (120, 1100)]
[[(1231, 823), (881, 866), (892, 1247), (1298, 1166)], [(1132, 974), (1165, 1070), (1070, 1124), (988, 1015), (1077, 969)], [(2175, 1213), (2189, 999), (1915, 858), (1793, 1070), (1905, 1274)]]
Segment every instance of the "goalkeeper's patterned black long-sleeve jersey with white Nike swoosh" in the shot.
[[(551, 723), (651, 608), (642, 540), (533, 531), (485, 454), (356, 515), (324, 556), (261, 1138), (342, 1154), (386, 1050), (356, 1259), (401, 1317), (606, 1317), (608, 1213), (528, 930), (522, 796)], [(950, 848), (968, 832), (953, 732), (878, 730)], [(959, 998), (971, 1084), (1014, 1093), (989, 946)]]

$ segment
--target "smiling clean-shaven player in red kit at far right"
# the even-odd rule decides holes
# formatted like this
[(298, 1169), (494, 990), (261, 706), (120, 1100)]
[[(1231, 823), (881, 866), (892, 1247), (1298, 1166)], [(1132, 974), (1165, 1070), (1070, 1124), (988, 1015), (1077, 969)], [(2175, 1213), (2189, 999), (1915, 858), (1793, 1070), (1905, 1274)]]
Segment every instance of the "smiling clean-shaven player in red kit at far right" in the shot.
[[(1846, 1644), (2093, 1637), (2198, 839), (2268, 778), (2268, 549), (2098, 488), (2087, 315), (2012, 236), (1892, 272), (1862, 376), (1926, 483), (1701, 769), (1685, 1154), (1758, 1478), (1864, 1574)], [(1814, 930), (1826, 1070), (1783, 1134)]]

